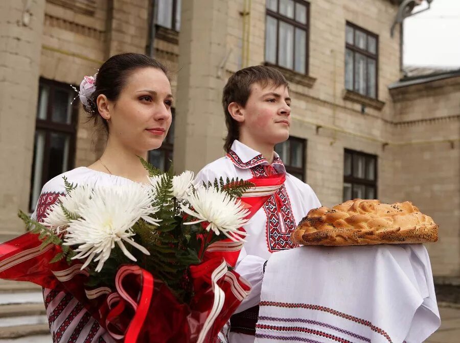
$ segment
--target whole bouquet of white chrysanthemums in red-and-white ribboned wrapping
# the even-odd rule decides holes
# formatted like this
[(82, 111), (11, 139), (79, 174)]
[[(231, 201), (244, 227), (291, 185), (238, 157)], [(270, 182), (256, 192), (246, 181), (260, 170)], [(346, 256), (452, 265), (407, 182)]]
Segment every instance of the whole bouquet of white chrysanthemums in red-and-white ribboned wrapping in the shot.
[[(256, 199), (242, 198), (251, 182), (195, 185), (191, 171), (174, 176), (142, 162), (150, 184), (74, 185), (64, 178), (66, 194), (42, 223), (21, 213), (31, 233), (17, 238), (27, 244), (14, 242), (23, 247), (14, 255), (20, 264), (9, 274), (0, 268), (0, 278), (65, 289), (114, 339), (215, 341), (250, 290), (233, 267), (246, 235), (242, 226), (262, 203), (242, 202)], [(25, 253), (25, 246), (36, 252)], [(1, 248), (0, 266), (13, 265), (11, 257), (2, 262), (8, 256)], [(24, 256), (31, 258), (22, 268)]]

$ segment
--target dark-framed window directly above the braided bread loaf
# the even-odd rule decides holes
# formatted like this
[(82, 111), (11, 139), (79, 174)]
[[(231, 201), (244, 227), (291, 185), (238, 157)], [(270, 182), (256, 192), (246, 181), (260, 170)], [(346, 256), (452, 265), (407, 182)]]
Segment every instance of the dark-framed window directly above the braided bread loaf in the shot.
[(377, 199), (377, 156), (345, 150), (343, 201)]

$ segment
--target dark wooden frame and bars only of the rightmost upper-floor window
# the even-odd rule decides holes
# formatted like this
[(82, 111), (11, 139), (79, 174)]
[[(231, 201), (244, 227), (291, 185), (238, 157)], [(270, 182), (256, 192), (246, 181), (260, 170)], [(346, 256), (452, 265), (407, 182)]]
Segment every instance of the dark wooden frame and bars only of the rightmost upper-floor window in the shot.
[[(344, 79), (344, 85), (345, 85), (345, 88), (347, 90), (350, 90), (350, 91), (353, 91), (353, 92), (356, 92), (360, 95), (363, 95), (363, 96), (367, 96), (369, 97), (370, 99), (379, 99), (379, 36), (369, 30), (366, 30), (364, 28), (361, 28), (359, 26), (357, 26), (356, 24), (350, 22), (350, 21), (346, 21), (345, 23), (345, 32), (347, 32), (347, 26), (353, 28), (353, 41), (355, 40), (355, 30), (357, 31), (360, 31), (362, 33), (364, 33), (366, 35), (366, 47), (369, 48), (369, 42), (367, 40), (367, 36), (371, 36), (375, 39), (375, 43), (376, 43), (376, 48), (375, 48), (375, 54), (372, 54), (371, 52), (367, 51), (367, 50), (362, 50), (360, 47), (356, 46), (356, 45), (352, 45), (350, 43), (347, 42), (347, 34), (345, 34), (345, 54), (344, 54), (344, 63), (346, 63), (346, 59), (347, 59), (347, 49), (352, 51), (353, 52), (353, 72), (352, 72), (352, 85), (353, 85), (353, 89), (348, 89), (347, 88), (347, 72), (344, 72), (343, 74), (343, 79)], [(358, 90), (355, 90), (355, 56), (356, 56), (356, 53), (359, 53), (361, 55), (364, 55), (366, 58), (371, 58), (371, 59), (374, 59), (375, 60), (375, 97), (371, 96), (371, 95), (367, 95), (367, 94), (362, 94), (360, 93)], [(366, 60), (367, 62), (367, 60)], [(369, 72), (367, 70), (367, 63), (366, 63), (366, 93), (369, 93), (369, 91), (367, 91), (367, 75), (369, 75)]]

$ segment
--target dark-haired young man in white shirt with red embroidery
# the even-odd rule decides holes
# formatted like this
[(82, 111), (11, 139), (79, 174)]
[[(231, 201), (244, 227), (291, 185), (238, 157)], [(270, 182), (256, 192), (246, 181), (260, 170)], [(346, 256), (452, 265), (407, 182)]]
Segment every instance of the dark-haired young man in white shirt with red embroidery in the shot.
[(321, 206), (311, 187), (286, 173), (274, 152), (275, 144), (289, 138), (291, 99), (289, 86), (277, 69), (252, 66), (228, 79), (222, 95), (228, 134), (227, 155), (206, 165), (198, 180), (226, 177), (248, 180), (285, 174), (283, 186), (273, 194), (244, 227), (248, 236), (236, 271), (252, 290), (232, 316), (230, 332), (224, 327), (219, 341), (254, 342), (264, 267), (274, 252), (294, 248), (289, 237), (297, 223)]

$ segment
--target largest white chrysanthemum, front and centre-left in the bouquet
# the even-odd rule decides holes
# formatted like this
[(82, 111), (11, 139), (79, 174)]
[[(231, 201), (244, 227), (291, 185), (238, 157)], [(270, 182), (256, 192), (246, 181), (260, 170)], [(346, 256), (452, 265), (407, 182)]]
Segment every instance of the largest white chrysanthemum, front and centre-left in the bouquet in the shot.
[(151, 224), (159, 222), (150, 217), (158, 211), (151, 203), (151, 192), (140, 184), (96, 188), (91, 200), (82, 208), (84, 216), (72, 220), (67, 227), (64, 244), (78, 246), (75, 249), (78, 254), (73, 259), (86, 258), (82, 269), (93, 259), (99, 261), (96, 272), (101, 271), (115, 244), (133, 261), (136, 259), (124, 243), (150, 255), (147, 249), (132, 239), (135, 233), (131, 228), (140, 218)]

